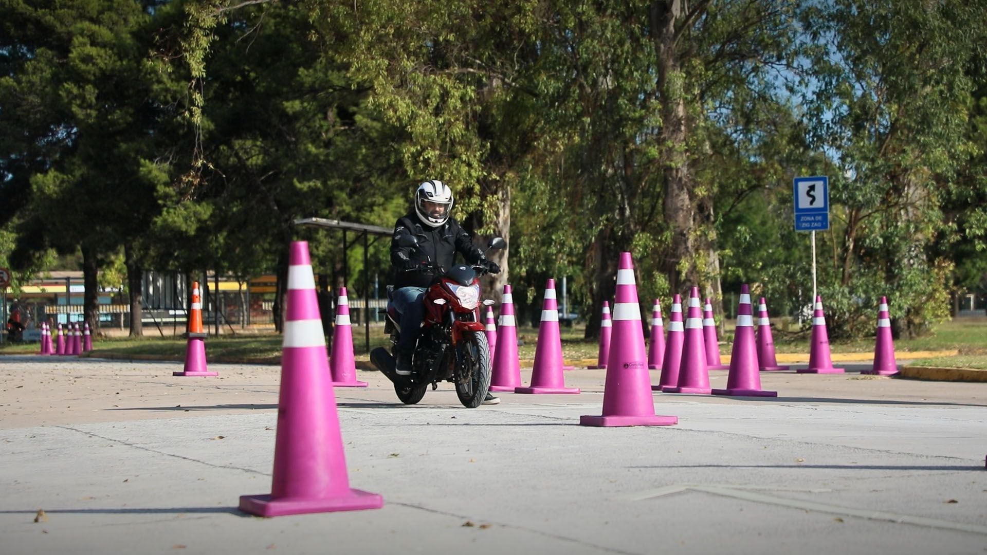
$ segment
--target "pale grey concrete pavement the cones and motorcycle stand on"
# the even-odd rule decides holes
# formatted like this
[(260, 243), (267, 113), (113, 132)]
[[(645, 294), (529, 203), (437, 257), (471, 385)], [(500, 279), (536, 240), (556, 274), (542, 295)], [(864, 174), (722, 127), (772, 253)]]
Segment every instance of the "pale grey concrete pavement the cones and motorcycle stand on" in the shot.
[(987, 384), (841, 365), (763, 372), (777, 399), (656, 393), (679, 424), (625, 429), (577, 425), (604, 370), (475, 410), (361, 371), (349, 482), (384, 509), (265, 519), (236, 507), (270, 491), (279, 367), (0, 357), (0, 552), (982, 554)]

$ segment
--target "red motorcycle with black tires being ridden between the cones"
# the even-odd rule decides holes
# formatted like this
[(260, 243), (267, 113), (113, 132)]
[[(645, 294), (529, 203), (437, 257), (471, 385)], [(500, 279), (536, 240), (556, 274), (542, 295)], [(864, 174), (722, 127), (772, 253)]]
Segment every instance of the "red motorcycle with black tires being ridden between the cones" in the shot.
[[(403, 247), (418, 244), (413, 236), (402, 239), (409, 242), (402, 244)], [(502, 238), (495, 237), (488, 251), (505, 246)], [(412, 358), (412, 374), (403, 376), (394, 371), (401, 325), (400, 315), (390, 302), (384, 331), (391, 335), (391, 350), (378, 347), (370, 352), (370, 360), (394, 382), (394, 392), (402, 403), (414, 405), (424, 396), (428, 384), (434, 390), (438, 382), (451, 381), (463, 406), (475, 409), (487, 397), (491, 385), (491, 353), (485, 325), (480, 321), (480, 305), (490, 305), (493, 301), (480, 301), (478, 279), (486, 270), (468, 265), (446, 270), (429, 262), (419, 271), (429, 272), (435, 278), (422, 296), (424, 319)], [(393, 288), (388, 286), (389, 301), (392, 294)]]

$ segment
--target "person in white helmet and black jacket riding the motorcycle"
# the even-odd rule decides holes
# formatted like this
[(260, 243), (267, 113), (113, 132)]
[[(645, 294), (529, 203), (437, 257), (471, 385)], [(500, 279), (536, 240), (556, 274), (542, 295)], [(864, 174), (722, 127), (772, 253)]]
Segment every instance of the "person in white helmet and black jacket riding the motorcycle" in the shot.
[[(425, 290), (431, 284), (432, 274), (422, 269), (438, 266), (452, 268), (456, 253), (466, 262), (483, 266), (489, 273), (497, 274), (500, 267), (484, 257), (467, 233), (450, 217), (453, 198), (449, 186), (438, 180), (418, 185), (415, 192), (415, 208), (398, 219), (391, 239), (391, 265), (394, 267), (394, 296), (392, 303), (401, 314), (401, 337), (398, 340), (398, 360), (395, 371), (400, 375), (412, 373), (412, 357), (418, 343), (418, 331), (424, 318), (421, 302)], [(399, 239), (412, 234), (418, 240), (416, 247), (400, 247)], [(499, 402), (487, 395), (485, 404)]]

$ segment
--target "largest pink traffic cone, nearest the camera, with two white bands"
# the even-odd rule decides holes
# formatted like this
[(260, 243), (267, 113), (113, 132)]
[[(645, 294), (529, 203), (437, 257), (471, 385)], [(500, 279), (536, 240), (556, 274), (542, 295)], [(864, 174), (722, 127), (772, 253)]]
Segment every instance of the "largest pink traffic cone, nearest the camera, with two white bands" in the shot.
[(291, 243), (288, 264), (271, 492), (241, 496), (240, 510), (279, 516), (380, 509), (381, 496), (349, 488), (307, 242)]

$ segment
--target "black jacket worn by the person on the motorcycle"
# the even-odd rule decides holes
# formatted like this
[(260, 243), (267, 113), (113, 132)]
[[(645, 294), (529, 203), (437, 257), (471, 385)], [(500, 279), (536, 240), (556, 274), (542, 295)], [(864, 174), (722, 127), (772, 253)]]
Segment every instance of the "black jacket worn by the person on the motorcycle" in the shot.
[[(418, 247), (399, 247), (398, 239), (412, 234), (418, 239)], [(427, 287), (433, 274), (407, 272), (410, 266), (430, 262), (445, 270), (456, 262), (456, 253), (463, 255), (466, 262), (477, 264), (484, 260), (484, 253), (476, 247), (467, 233), (454, 218), (450, 217), (438, 227), (421, 223), (418, 214), (409, 212), (398, 219), (391, 238), (391, 265), (394, 267), (394, 287)]]

